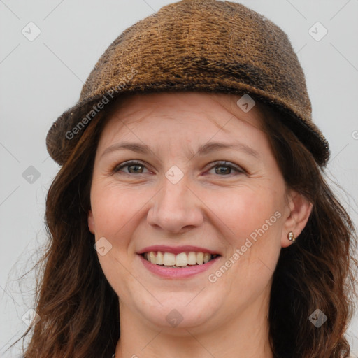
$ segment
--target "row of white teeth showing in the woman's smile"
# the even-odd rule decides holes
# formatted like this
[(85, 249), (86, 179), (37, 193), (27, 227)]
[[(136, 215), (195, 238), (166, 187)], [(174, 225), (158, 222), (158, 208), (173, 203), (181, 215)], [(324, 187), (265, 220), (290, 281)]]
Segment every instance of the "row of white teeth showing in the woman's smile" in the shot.
[(208, 252), (180, 252), (178, 255), (174, 255), (171, 252), (145, 252), (144, 258), (152, 264), (173, 266), (176, 268), (188, 266), (188, 265), (202, 265), (209, 262), (210, 259), (214, 259), (217, 255), (211, 255)]

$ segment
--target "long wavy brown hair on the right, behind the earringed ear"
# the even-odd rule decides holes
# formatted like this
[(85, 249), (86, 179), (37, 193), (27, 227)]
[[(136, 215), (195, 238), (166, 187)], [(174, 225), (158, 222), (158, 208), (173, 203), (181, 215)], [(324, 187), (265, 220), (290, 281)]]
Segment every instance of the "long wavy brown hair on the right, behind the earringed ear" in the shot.
[[(273, 274), (269, 310), (274, 357), (346, 358), (345, 331), (357, 299), (357, 234), (345, 208), (307, 148), (284, 122), (264, 109), (262, 121), (286, 185), (313, 203), (294, 245), (281, 250)], [(308, 317), (327, 316), (321, 327)]]

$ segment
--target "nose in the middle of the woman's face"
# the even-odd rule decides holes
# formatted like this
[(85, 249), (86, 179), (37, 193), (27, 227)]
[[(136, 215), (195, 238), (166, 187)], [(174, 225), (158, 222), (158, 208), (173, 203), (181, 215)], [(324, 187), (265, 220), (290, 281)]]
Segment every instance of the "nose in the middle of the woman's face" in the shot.
[(184, 234), (203, 223), (203, 203), (188, 187), (185, 176), (176, 184), (164, 177), (164, 184), (152, 199), (148, 224), (173, 234)]

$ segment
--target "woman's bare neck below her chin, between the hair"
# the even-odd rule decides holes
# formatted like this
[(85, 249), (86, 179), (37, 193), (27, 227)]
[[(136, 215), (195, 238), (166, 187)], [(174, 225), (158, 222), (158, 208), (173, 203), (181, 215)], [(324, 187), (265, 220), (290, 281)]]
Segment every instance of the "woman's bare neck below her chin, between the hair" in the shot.
[(265, 301), (257, 300), (212, 331), (206, 327), (155, 329), (120, 305), (121, 337), (115, 358), (273, 358)]

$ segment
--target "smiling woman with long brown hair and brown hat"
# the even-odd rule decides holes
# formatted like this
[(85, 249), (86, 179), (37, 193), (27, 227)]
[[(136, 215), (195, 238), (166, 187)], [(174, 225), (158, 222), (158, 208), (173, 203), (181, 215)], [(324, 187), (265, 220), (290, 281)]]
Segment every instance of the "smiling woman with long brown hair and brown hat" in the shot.
[(47, 145), (62, 168), (24, 357), (349, 356), (355, 229), (271, 21), (165, 6), (110, 45)]

